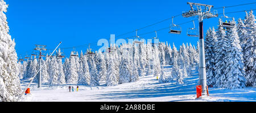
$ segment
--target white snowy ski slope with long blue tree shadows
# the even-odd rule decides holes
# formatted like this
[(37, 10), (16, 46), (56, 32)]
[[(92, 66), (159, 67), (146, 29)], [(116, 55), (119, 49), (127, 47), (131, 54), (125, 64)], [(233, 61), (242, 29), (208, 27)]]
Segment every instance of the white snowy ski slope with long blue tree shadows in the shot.
[[(166, 74), (170, 74), (171, 66), (165, 66)], [(31, 94), (23, 97), (22, 101), (153, 101), (153, 102), (180, 102), (180, 101), (256, 101), (256, 87), (245, 89), (217, 89), (209, 88), (208, 99), (196, 98), (196, 85), (198, 73), (184, 79), (184, 84), (178, 85), (174, 82), (160, 84), (156, 77), (140, 77), (138, 82), (120, 84), (118, 86), (79, 86), (79, 92), (69, 92), (68, 86), (76, 89), (76, 84), (65, 84), (49, 87), (47, 83), (38, 89), (37, 84), (32, 83)], [(22, 88), (28, 81), (22, 81)]]

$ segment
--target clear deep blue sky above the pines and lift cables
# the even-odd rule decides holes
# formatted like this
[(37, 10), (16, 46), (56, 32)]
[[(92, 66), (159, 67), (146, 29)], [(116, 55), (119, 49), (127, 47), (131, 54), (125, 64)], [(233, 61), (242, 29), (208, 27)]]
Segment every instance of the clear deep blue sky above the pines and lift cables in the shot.
[[(7, 0), (7, 21), (9, 22), (10, 35), (15, 38), (16, 52), (18, 56), (31, 54), (35, 44), (47, 45), (47, 49), (54, 47), (62, 41), (61, 48), (85, 45), (97, 42), (101, 38), (108, 39), (110, 34), (119, 34), (134, 31), (158, 21), (171, 18), (171, 16), (188, 11), (187, 2), (203, 3), (214, 7), (240, 5), (255, 1), (238, 0), (205, 0), (205, 1), (152, 1), (152, 0), (130, 0), (130, 1), (86, 1), (86, 0)], [(256, 5), (246, 5), (226, 8), (225, 12), (249, 10)], [(222, 13), (222, 9), (217, 9)], [(244, 18), (245, 12), (227, 14), (230, 17)], [(220, 15), (219, 17), (221, 17)], [(174, 18), (175, 24), (187, 22), (196, 18)], [(198, 21), (195, 21), (196, 28)], [(166, 28), (171, 20), (156, 24), (138, 31), (138, 34)], [(217, 28), (218, 18), (204, 20), (204, 32), (209, 27)], [(191, 42), (196, 45), (197, 38), (186, 36), (187, 28), (193, 23), (181, 25), (182, 34), (169, 34), (168, 29), (158, 32), (160, 41), (175, 43), (176, 47)], [(135, 32), (126, 34), (125, 38), (134, 36)], [(155, 33), (143, 35), (143, 38), (154, 37)], [(92, 45), (92, 49), (98, 50), (101, 46)], [(86, 51), (87, 46), (77, 47), (76, 50)], [(69, 56), (73, 49), (65, 49), (65, 55)], [(49, 51), (47, 51), (49, 52)]]

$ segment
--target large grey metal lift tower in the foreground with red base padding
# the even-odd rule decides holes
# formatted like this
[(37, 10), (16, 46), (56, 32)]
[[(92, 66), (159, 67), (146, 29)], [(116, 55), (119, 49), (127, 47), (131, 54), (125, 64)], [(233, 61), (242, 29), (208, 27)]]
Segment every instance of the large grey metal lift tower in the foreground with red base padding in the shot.
[[(215, 18), (218, 16), (217, 11), (210, 11), (212, 5), (203, 5), (200, 3), (188, 2), (191, 10), (183, 12), (184, 18), (197, 16), (199, 21), (199, 85), (202, 86), (202, 96), (207, 96), (207, 77), (205, 71), (205, 54), (204, 54), (204, 35), (203, 35), (203, 19)], [(194, 9), (194, 7), (196, 7)], [(203, 9), (201, 8), (203, 7)]]

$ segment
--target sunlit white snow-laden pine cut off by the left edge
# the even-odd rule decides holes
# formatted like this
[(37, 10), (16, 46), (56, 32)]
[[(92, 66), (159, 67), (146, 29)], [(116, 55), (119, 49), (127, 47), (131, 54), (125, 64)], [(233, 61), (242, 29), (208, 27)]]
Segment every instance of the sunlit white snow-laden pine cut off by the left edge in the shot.
[(16, 101), (20, 93), (17, 54), (15, 41), (9, 34), (9, 26), (5, 12), (8, 5), (0, 1), (0, 100)]

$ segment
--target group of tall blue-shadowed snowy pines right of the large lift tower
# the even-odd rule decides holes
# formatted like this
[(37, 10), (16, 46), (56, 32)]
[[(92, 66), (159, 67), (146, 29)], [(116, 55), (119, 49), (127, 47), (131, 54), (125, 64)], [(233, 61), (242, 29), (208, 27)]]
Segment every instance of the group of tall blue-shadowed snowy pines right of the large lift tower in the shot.
[[(218, 88), (255, 86), (256, 24), (253, 11), (245, 19), (233, 18), (233, 28), (209, 28), (205, 37), (207, 84)], [(217, 31), (216, 31), (217, 30)]]

